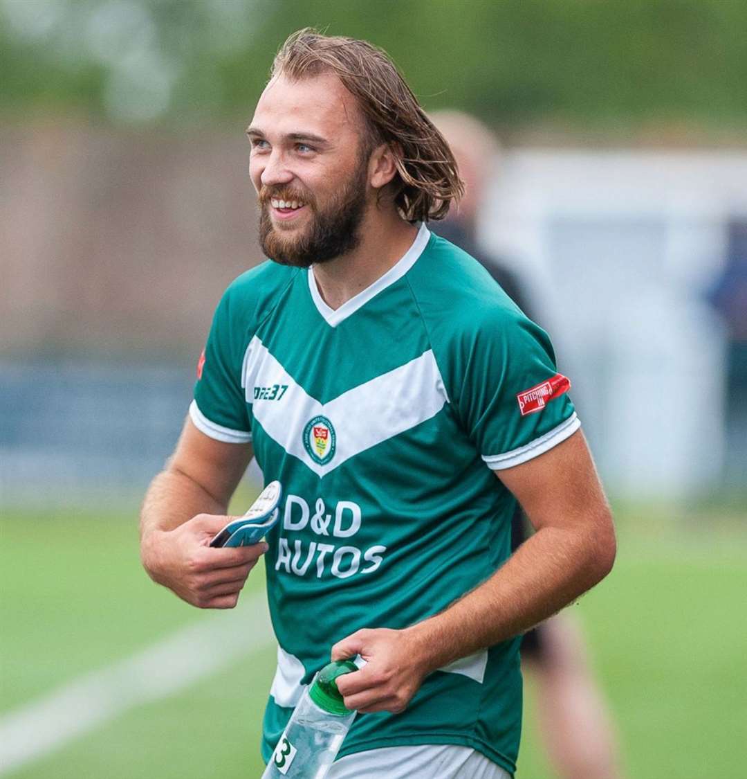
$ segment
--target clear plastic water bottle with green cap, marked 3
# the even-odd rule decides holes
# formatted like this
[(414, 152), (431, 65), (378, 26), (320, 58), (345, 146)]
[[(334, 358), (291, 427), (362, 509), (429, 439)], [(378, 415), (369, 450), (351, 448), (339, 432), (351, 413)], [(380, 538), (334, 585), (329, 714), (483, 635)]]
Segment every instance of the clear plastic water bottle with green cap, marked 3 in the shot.
[(356, 712), (342, 703), (335, 679), (357, 670), (356, 662), (338, 660), (314, 676), (280, 736), (262, 779), (323, 779), (327, 775), (356, 717)]

